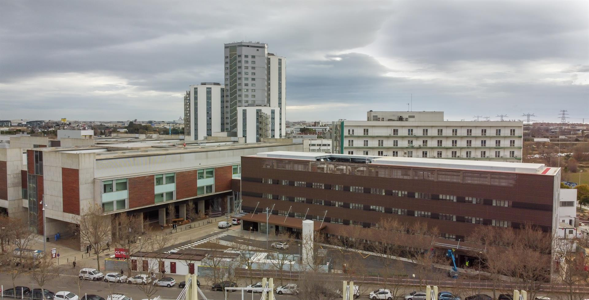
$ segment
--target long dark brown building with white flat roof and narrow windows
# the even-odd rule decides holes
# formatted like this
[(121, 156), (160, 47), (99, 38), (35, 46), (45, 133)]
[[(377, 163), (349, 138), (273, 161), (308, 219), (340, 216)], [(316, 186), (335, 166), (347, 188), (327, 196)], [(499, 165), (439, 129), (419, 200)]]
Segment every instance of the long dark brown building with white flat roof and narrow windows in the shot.
[(276, 151), (241, 165), (243, 219), (265, 223), (272, 209), (270, 231), (296, 231), (306, 218), (346, 236), (349, 226), (369, 230), (394, 216), (464, 241), (479, 226), (557, 225), (560, 168), (543, 164)]

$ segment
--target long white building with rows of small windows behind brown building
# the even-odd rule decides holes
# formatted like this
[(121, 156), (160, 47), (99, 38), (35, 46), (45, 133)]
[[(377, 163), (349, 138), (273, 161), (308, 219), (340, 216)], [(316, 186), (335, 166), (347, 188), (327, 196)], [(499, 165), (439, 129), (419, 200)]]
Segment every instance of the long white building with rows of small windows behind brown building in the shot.
[(333, 122), (332, 153), (521, 162), (521, 121), (428, 121), (444, 113), (386, 113), (392, 116), (386, 121)]

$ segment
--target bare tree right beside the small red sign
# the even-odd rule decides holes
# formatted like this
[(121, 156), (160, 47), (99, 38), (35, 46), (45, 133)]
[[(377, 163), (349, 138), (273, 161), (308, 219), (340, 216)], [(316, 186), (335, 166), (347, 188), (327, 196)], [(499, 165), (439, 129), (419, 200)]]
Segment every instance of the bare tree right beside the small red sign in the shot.
[[(128, 215), (126, 212), (118, 214), (113, 220), (113, 226), (116, 228), (117, 236), (113, 239), (114, 244), (124, 248), (128, 255), (141, 251), (144, 241), (148, 236), (141, 236), (141, 222), (137, 215)], [(140, 238), (141, 237), (141, 238)], [(143, 241), (142, 241), (143, 240)], [(131, 258), (127, 257), (127, 274), (131, 274)]]

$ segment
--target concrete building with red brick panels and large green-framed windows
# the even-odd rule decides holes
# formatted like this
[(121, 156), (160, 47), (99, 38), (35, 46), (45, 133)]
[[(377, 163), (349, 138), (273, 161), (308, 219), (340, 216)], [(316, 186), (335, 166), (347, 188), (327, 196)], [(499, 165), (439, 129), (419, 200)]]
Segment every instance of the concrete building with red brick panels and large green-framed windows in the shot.
[[(260, 149), (302, 151), (302, 144), (178, 148), (176, 144), (121, 143), (28, 149), (21, 171), (27, 197), (21, 205), (29, 213), (31, 228), (39, 234), (45, 213), (48, 235), (67, 232), (68, 225), (77, 223), (78, 216), (92, 205), (102, 206), (112, 216), (138, 214), (145, 226), (170, 224), (170, 204), (175, 204), (181, 219), (186, 219), (188, 202), (194, 202), (197, 214), (231, 213), (239, 207), (239, 188), (233, 185), (240, 177), (240, 156)], [(47, 205), (45, 211), (41, 200)]]

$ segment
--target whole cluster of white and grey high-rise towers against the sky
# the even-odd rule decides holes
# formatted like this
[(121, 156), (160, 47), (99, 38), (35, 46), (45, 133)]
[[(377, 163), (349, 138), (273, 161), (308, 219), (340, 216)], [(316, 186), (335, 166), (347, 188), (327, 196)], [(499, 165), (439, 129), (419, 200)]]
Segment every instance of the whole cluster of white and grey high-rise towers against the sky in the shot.
[[(191, 85), (184, 95), (187, 141), (214, 132), (243, 137), (240, 128), (250, 128), (248, 142), (286, 136), (286, 58), (268, 53), (267, 48), (253, 42), (225, 44), (224, 85), (203, 82)], [(244, 114), (240, 107), (272, 109), (247, 109)], [(254, 124), (256, 120), (260, 123)], [(251, 128), (261, 129), (254, 134)]]

